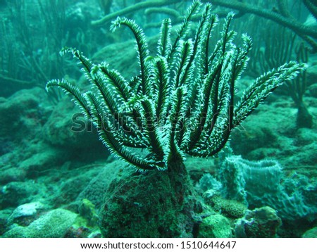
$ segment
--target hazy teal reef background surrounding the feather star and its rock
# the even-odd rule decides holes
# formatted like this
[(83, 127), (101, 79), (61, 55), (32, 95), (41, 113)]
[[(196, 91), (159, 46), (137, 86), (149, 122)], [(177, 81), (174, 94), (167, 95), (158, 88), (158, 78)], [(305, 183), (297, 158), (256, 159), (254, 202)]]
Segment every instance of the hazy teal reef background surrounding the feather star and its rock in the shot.
[[(223, 151), (209, 158), (186, 156), (185, 167), (204, 208), (193, 236), (316, 238), (316, 1), (210, 2), (220, 24), (227, 13), (236, 13), (230, 29), (238, 34), (237, 44), (244, 33), (253, 42), (235, 87), (237, 99), (272, 68), (288, 61), (307, 68), (233, 130)], [(66, 78), (88, 87), (76, 61), (60, 55), (64, 46), (96, 63), (106, 61), (128, 79), (138, 75), (132, 32), (111, 32), (111, 21), (117, 15), (134, 19), (144, 29), (149, 50), (155, 51), (161, 20), (180, 25), (191, 4), (0, 0), (1, 237), (103, 237), (101, 226), (116, 229), (120, 220), (101, 220), (106, 192), (133, 168), (111, 155), (66, 94), (46, 92), (46, 83)], [(213, 31), (211, 44), (220, 39), (221, 27)], [(129, 188), (121, 193), (122, 199), (133, 199)], [(123, 213), (120, 206), (112, 208)], [(116, 237), (135, 232), (133, 222), (124, 223), (131, 232), (114, 233)]]

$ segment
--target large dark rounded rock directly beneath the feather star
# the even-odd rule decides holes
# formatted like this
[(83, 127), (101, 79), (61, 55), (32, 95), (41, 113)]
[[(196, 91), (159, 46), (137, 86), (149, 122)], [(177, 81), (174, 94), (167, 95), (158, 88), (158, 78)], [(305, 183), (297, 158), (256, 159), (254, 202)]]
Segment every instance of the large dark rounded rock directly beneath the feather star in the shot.
[(195, 237), (201, 205), (187, 174), (174, 172), (126, 171), (114, 179), (99, 213), (103, 236)]

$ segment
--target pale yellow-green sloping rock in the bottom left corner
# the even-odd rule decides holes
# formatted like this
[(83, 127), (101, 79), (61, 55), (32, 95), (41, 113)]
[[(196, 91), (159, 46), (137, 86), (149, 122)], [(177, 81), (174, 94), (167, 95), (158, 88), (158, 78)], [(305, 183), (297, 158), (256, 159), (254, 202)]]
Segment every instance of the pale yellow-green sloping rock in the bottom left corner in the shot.
[(15, 225), (4, 234), (12, 238), (62, 238), (73, 225), (77, 214), (65, 209), (54, 209), (42, 215), (27, 227)]

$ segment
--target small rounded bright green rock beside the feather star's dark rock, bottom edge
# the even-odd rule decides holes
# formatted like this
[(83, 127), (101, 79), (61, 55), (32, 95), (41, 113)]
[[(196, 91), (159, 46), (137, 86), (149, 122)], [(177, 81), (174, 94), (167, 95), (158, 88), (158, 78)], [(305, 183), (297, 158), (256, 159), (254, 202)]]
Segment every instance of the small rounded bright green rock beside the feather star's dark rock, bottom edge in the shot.
[(199, 225), (199, 238), (230, 238), (232, 237), (230, 222), (223, 215), (211, 215)]

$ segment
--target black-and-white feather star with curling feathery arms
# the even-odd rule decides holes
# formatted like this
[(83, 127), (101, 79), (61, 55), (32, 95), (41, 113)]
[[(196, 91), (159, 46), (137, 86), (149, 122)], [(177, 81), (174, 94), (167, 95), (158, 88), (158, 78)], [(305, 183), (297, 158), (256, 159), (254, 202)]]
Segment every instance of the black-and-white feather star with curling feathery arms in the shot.
[[(141, 70), (130, 81), (106, 63), (96, 65), (76, 49), (63, 49), (62, 54), (73, 53), (80, 61), (92, 88), (82, 92), (67, 80), (46, 85), (47, 89), (61, 87), (73, 96), (106, 147), (139, 170), (169, 170), (170, 164), (182, 163), (185, 153), (199, 157), (218, 153), (234, 127), (304, 68), (290, 62), (261, 75), (234, 105), (235, 82), (247, 65), (251, 39), (244, 34), (241, 47), (233, 44), (236, 33), (229, 26), (234, 14), (229, 13), (221, 38), (210, 51), (218, 23), (211, 4), (205, 5), (195, 36), (187, 38), (190, 21), (200, 7), (194, 1), (173, 42), (170, 19), (163, 20), (155, 55), (134, 20), (113, 21), (111, 30), (126, 26), (137, 42)], [(137, 156), (130, 147), (147, 149), (149, 155)]]

